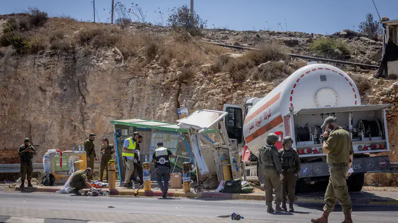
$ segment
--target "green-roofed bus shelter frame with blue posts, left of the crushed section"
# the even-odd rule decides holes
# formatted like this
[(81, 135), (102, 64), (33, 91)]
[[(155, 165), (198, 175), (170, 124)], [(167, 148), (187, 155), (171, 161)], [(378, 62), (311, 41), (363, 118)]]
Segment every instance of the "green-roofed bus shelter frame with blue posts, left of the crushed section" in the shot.
[[(188, 130), (181, 129), (179, 126), (177, 126), (176, 123), (155, 121), (155, 120), (149, 120), (149, 119), (139, 119), (139, 118), (111, 120), (111, 123), (114, 124), (114, 137), (115, 137), (116, 156), (117, 156), (117, 164), (118, 164), (118, 169), (119, 169), (120, 185), (122, 185), (122, 182), (124, 180), (124, 173), (125, 173), (125, 169), (122, 169), (122, 166), (123, 166), (123, 160), (122, 160), (123, 143), (126, 138), (128, 138), (132, 135), (132, 132), (135, 132), (138, 129), (150, 131), (151, 132), (150, 137), (152, 137), (152, 134), (154, 132), (170, 132), (170, 133), (177, 134), (177, 135), (179, 134), (180, 139), (182, 140), (183, 144), (185, 145), (185, 147), (188, 150), (188, 153), (191, 156), (191, 159), (194, 160), (194, 157), (193, 157), (192, 152), (190, 151), (189, 145), (185, 141), (185, 137), (183, 136), (183, 134), (188, 133)], [(117, 125), (125, 126), (124, 133), (125, 132), (127, 132), (127, 133), (124, 134), (124, 133), (117, 132), (117, 129), (118, 129)], [(122, 131), (120, 131), (120, 132), (122, 132)], [(205, 133), (215, 133), (215, 131), (209, 129), (209, 130), (205, 131)], [(120, 144), (120, 146), (119, 146), (119, 144)], [(149, 146), (152, 146), (152, 145), (149, 145)], [(148, 162), (151, 163), (151, 168), (153, 168), (152, 162), (151, 162), (151, 159), (152, 159), (151, 154), (149, 153), (148, 156), (149, 156)], [(140, 158), (142, 158), (142, 157), (140, 157)]]

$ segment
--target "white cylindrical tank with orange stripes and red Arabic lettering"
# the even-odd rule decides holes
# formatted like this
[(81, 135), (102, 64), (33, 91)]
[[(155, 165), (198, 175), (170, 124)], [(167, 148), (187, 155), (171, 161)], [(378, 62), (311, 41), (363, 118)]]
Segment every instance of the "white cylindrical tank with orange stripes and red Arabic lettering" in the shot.
[(243, 134), (258, 157), (269, 133), (285, 136), (284, 115), (307, 108), (361, 105), (354, 81), (340, 69), (323, 63), (305, 66), (274, 88), (247, 113)]

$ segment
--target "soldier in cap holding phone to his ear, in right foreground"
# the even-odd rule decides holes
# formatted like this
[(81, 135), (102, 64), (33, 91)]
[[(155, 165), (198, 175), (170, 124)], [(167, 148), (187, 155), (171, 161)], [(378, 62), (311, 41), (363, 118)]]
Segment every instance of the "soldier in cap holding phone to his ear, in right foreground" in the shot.
[(329, 213), (333, 211), (336, 201), (341, 205), (344, 213), (342, 223), (352, 223), (352, 204), (346, 178), (350, 176), (348, 170), (351, 168), (354, 150), (349, 132), (337, 125), (337, 118), (329, 116), (321, 126), (325, 128), (323, 137), (323, 152), (327, 154), (329, 164), (329, 184), (325, 193), (324, 212), (320, 218), (312, 218), (314, 223), (327, 223)]

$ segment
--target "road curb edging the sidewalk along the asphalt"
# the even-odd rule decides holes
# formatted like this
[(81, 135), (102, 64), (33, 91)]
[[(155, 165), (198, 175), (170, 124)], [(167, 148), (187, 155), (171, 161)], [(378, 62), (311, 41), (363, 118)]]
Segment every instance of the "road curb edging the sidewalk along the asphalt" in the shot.
[[(15, 187), (16, 191), (21, 191), (19, 187)], [(31, 193), (31, 192), (47, 192), (47, 193), (56, 193), (59, 188), (51, 188), (48, 187), (24, 187), (22, 192)], [(87, 190), (87, 189), (84, 189)], [(102, 190), (108, 190), (108, 188), (102, 188)], [(135, 190), (118, 190), (115, 189), (111, 192), (111, 195), (125, 195), (125, 196), (134, 196)], [(140, 190), (138, 192), (138, 196), (145, 197), (162, 197), (162, 192), (160, 191), (147, 191)], [(256, 200), (256, 201), (264, 201), (264, 195), (252, 195), (252, 194), (227, 194), (227, 193), (217, 193), (217, 192), (168, 192), (168, 197), (182, 197), (182, 198), (209, 198), (209, 199), (223, 199), (223, 200)], [(275, 201), (275, 196), (273, 198)], [(317, 203), (324, 204), (325, 200), (323, 197), (308, 197), (308, 196), (297, 196), (298, 203)], [(352, 204), (356, 205), (388, 205), (388, 206), (398, 206), (398, 200), (396, 199), (351, 199)]]

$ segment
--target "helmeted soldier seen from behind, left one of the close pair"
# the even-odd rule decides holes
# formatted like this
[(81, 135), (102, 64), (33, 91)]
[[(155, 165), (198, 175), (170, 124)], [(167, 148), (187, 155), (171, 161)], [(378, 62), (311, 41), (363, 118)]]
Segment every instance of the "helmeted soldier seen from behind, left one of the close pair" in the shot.
[[(266, 204), (267, 212), (281, 212), (280, 207), (282, 201), (282, 165), (275, 143), (278, 136), (274, 133), (268, 134), (267, 144), (259, 150), (258, 162), (264, 165), (264, 182), (266, 187)], [(275, 210), (272, 208), (273, 189), (275, 191)]]

